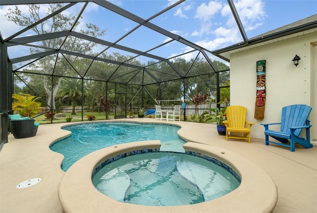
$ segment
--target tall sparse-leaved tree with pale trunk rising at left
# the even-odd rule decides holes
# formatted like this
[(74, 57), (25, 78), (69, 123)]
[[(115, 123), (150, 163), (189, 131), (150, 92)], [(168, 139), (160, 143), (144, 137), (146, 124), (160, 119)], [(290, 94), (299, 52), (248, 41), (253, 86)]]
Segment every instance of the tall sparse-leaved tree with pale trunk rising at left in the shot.
[[(33, 24), (34, 21), (40, 20), (42, 18), (40, 15), (41, 8), (39, 4), (28, 4), (27, 6), (29, 11), (28, 13), (22, 13), (22, 11), (17, 6), (15, 6), (15, 8), (10, 8), (8, 10), (8, 12), (5, 14), (5, 17), (7, 18), (7, 20), (12, 21), (19, 26), (29, 26)], [(63, 4), (61, 3), (48, 4), (48, 10), (46, 14), (49, 15), (62, 7)], [(76, 16), (77, 14), (72, 13), (58, 13), (52, 18), (41, 22), (37, 26), (34, 26), (32, 30), (38, 35), (70, 30), (77, 18)], [(75, 27), (79, 24), (80, 22), (75, 23)], [(85, 28), (81, 29), (79, 32), (92, 37), (101, 37), (106, 33), (105, 30), (99, 29), (99, 27), (94, 24), (86, 24)], [(97, 45), (94, 42), (83, 41), (72, 36), (67, 37), (65, 41), (63, 40), (64, 38), (55, 38), (43, 40), (41, 41), (41, 43), (44, 48), (49, 49), (59, 49), (60, 44), (63, 44), (63, 49), (74, 52), (76, 51), (83, 54), (92, 52), (93, 48)], [(40, 53), (43, 51), (43, 48), (30, 49), (30, 52), (32, 54)], [(68, 61), (62, 60), (63, 57), (59, 57), (56, 55), (47, 56), (43, 59), (38, 60), (37, 63), (31, 64), (30, 66), (33, 67), (34, 70), (40, 70), (43, 73), (51, 74), (51, 77), (53, 77), (53, 71), (55, 73), (63, 73), (63, 75), (65, 76), (65, 72), (73, 72), (73, 70), (65, 69), (66, 64), (69, 62), (71, 63), (76, 57), (69, 57)], [(64, 63), (62, 63), (62, 61), (64, 61)], [(53, 69), (54, 66), (55, 69)], [(53, 80), (49, 79), (48, 75), (42, 75), (42, 77), (44, 89), (48, 98), (47, 105), (49, 108), (55, 109), (55, 97), (60, 86), (62, 77), (53, 78)], [(50, 85), (49, 82), (53, 82), (53, 85)]]

